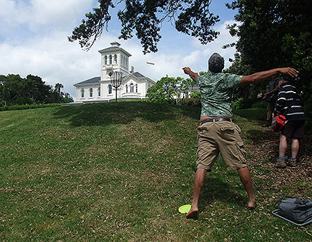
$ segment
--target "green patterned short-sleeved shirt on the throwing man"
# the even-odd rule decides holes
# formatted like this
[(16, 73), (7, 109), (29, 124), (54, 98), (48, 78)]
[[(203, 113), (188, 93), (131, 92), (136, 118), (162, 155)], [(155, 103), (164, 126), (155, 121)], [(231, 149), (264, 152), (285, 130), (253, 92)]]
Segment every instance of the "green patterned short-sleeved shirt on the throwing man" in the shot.
[(241, 83), (242, 75), (208, 72), (197, 78), (202, 98), (202, 116), (231, 115), (233, 89)]

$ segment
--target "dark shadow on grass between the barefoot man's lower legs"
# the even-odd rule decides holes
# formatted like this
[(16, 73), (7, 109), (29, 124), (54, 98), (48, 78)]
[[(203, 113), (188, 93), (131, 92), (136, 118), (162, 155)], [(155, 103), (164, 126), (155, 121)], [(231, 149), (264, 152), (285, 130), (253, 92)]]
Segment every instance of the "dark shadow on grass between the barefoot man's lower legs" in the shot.
[(243, 189), (243, 185), (241, 187), (231, 187), (229, 183), (225, 183), (219, 178), (209, 177), (208, 174), (205, 186), (200, 194), (200, 203), (202, 205), (208, 205), (213, 201), (223, 201), (225, 203), (242, 205), (244, 199), (239, 196), (239, 193), (234, 193), (233, 189), (239, 192)]

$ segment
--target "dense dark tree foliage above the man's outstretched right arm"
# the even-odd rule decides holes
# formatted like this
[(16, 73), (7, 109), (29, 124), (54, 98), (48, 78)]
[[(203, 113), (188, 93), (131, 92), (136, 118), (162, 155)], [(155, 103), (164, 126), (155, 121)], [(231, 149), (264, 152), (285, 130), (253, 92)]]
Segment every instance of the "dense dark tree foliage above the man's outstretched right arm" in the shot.
[(248, 75), (282, 66), (296, 68), (301, 78), (297, 87), (311, 120), (312, 1), (236, 0), (227, 6), (238, 10), (235, 19), (241, 22), (229, 26), (231, 34), (239, 37), (239, 56), (229, 71)]

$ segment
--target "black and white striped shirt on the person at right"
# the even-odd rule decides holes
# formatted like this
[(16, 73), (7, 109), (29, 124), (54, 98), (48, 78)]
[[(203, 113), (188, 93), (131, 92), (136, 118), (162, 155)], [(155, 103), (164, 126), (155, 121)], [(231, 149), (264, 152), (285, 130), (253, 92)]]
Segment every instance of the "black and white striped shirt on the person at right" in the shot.
[(274, 113), (284, 115), (286, 120), (305, 120), (300, 95), (291, 82), (284, 82), (279, 86)]

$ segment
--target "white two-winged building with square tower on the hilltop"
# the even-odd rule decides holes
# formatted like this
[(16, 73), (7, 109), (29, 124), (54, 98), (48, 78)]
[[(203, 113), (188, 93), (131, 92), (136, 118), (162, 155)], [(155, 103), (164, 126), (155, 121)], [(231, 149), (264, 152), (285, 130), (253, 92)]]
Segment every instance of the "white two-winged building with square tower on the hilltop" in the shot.
[(122, 73), (122, 82), (117, 89), (119, 100), (139, 100), (146, 98), (146, 91), (155, 82), (139, 72), (134, 72), (134, 68), (129, 71), (130, 53), (119, 47), (118, 42), (110, 43), (112, 46), (101, 53), (101, 76), (93, 77), (83, 82), (73, 84), (76, 88), (75, 102), (109, 102), (116, 99), (116, 90), (111, 84), (110, 73), (119, 71)]

